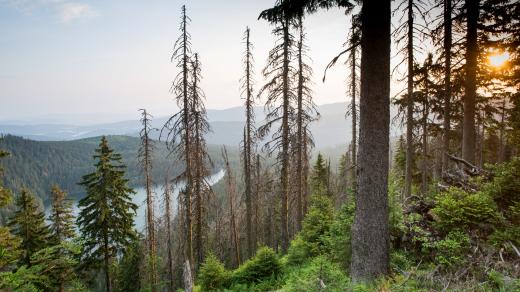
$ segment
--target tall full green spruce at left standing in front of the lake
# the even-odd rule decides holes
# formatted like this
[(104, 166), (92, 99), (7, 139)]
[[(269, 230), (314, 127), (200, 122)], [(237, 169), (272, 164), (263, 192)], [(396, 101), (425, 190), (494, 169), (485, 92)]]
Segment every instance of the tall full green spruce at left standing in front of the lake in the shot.
[(131, 199), (135, 192), (128, 186), (121, 155), (109, 147), (106, 137), (101, 138), (93, 157), (96, 170), (80, 182), (87, 195), (79, 201), (77, 222), (85, 239), (86, 264), (103, 267), (106, 290), (111, 292), (110, 263), (136, 237), (133, 225), (137, 205)]

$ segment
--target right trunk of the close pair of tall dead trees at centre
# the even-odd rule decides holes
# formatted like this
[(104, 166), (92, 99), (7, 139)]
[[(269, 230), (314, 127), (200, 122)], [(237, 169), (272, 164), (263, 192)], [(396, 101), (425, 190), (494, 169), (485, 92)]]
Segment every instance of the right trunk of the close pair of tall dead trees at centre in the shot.
[(302, 16), (298, 18), (300, 40), (298, 42), (298, 113), (297, 113), (297, 142), (296, 142), (296, 231), (301, 230), (303, 221), (303, 21)]

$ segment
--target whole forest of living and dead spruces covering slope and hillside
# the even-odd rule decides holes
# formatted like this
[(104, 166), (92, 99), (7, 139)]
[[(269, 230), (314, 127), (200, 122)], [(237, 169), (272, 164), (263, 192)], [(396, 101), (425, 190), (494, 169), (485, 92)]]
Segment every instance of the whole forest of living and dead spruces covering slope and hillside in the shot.
[[(206, 140), (211, 97), (190, 34), (203, 20), (189, 9), (172, 40), (178, 111), (160, 129), (141, 109), (139, 138), (2, 138), (0, 290), (520, 291), (519, 1), (276, 0), (251, 19), (272, 26), (265, 64), (244, 28), (234, 147)], [(352, 25), (313, 68), (306, 16), (327, 9)], [(339, 66), (346, 82), (328, 84)], [(338, 161), (310, 130), (322, 74), (349, 100)]]

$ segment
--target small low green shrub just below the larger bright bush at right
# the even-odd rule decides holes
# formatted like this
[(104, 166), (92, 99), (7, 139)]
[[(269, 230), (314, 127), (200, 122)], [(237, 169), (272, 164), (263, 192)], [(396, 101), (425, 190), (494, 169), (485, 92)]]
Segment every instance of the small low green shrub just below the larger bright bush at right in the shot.
[(435, 255), (435, 262), (449, 268), (463, 262), (469, 244), (470, 238), (466, 233), (451, 231), (445, 238), (425, 244), (425, 248)]

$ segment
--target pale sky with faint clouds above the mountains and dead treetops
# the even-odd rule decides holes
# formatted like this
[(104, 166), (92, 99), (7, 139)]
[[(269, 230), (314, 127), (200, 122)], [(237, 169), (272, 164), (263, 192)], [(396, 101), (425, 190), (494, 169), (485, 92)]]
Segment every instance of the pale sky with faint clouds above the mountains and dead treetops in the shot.
[[(243, 103), (242, 37), (251, 28), (256, 89), (274, 44), (272, 26), (257, 20), (274, 0), (0, 0), (0, 121), (107, 122), (177, 111), (169, 92), (180, 9), (192, 19), (192, 49), (202, 62), (209, 109)], [(342, 9), (305, 19), (317, 104), (346, 101), (342, 51), (350, 28)], [(343, 59), (344, 61), (344, 59)]]

